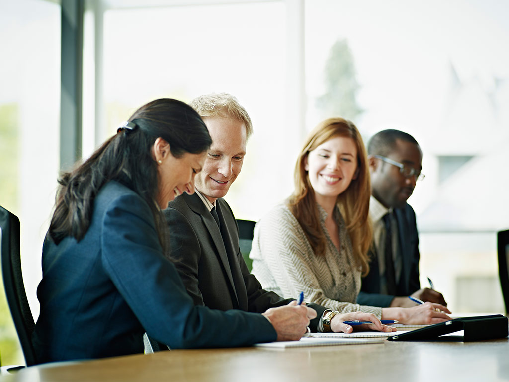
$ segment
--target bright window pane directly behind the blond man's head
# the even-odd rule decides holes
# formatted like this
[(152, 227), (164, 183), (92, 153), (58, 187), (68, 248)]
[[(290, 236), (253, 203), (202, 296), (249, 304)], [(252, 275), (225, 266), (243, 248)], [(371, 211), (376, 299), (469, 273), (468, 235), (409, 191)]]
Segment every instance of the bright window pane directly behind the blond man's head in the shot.
[[(261, 210), (257, 204), (275, 202), (292, 182), (287, 152), (295, 145), (285, 143), (295, 135), (295, 126), (286, 124), (286, 5), (232, 3), (105, 10), (98, 53), (103, 102), (96, 110), (103, 110), (99, 123), (107, 136), (153, 99), (189, 102), (210, 92), (233, 94), (249, 113), (254, 134), (242, 175), (228, 197), (239, 218), (256, 219)], [(93, 38), (89, 32), (85, 35)], [(83, 131), (93, 129), (83, 126)], [(285, 193), (267, 193), (281, 187), (281, 178)]]

